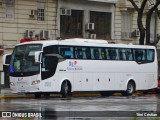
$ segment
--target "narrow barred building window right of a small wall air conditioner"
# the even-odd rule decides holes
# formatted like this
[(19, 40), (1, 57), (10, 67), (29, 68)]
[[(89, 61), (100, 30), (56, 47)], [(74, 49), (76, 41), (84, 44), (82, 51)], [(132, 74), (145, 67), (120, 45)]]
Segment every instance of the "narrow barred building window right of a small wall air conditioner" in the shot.
[(39, 0), (39, 2), (38, 2), (37, 20), (38, 21), (45, 20), (45, 0)]

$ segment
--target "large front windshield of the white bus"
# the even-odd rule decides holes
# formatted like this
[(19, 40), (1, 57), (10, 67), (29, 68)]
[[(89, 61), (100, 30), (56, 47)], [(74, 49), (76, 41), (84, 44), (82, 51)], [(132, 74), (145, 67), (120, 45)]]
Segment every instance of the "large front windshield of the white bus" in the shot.
[(42, 49), (41, 44), (27, 44), (15, 47), (10, 63), (11, 76), (30, 76), (40, 72), (40, 65), (35, 63), (36, 51)]

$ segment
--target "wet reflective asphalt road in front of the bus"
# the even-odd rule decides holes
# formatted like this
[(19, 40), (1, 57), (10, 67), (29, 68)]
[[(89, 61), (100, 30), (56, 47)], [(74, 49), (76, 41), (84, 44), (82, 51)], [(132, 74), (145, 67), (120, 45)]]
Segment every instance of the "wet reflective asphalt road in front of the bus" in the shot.
[(0, 99), (0, 111), (2, 120), (157, 120), (160, 119), (160, 94)]

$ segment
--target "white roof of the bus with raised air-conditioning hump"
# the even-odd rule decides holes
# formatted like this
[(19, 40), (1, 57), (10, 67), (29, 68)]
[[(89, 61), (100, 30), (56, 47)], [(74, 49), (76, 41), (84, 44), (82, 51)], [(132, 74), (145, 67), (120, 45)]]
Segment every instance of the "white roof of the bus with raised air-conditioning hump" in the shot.
[(33, 41), (20, 43), (18, 45), (25, 44), (43, 44), (43, 47), (49, 45), (73, 45), (73, 46), (94, 46), (94, 47), (119, 47), (119, 48), (148, 48), (155, 49), (154, 46), (148, 45), (132, 45), (132, 44), (109, 44), (106, 40), (98, 40), (98, 39), (83, 39), (83, 38), (73, 38), (73, 39), (65, 39), (65, 40), (43, 40), (43, 41)]

